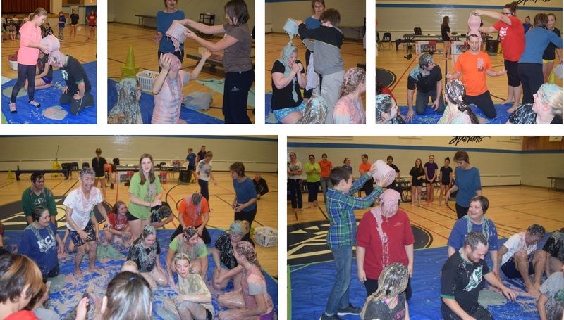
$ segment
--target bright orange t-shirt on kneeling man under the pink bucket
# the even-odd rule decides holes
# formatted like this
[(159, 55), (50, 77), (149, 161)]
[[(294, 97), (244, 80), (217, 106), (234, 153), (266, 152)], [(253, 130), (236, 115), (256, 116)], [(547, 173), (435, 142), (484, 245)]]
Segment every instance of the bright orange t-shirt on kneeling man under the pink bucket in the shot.
[(468, 96), (479, 96), (488, 91), (486, 70), (491, 70), (491, 61), (486, 53), (462, 53), (456, 60), (455, 70), (462, 72), (462, 83)]

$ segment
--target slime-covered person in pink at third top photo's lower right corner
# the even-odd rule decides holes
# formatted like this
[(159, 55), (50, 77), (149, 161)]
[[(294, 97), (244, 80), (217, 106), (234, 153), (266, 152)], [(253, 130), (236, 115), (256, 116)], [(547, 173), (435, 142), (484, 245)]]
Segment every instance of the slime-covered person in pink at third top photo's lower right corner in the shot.
[(365, 124), (366, 113), (362, 105), (362, 94), (366, 92), (366, 72), (362, 68), (351, 68), (345, 73), (340, 98), (333, 109), (333, 123)]

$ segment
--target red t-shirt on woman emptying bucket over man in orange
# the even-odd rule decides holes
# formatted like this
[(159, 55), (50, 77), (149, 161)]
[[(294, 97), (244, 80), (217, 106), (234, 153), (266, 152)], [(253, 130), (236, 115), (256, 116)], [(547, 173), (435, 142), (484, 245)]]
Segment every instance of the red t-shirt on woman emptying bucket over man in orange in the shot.
[(494, 28), (499, 32), (503, 58), (508, 61), (519, 61), (521, 54), (525, 51), (525, 29), (519, 18), (508, 16), (511, 25), (499, 20)]

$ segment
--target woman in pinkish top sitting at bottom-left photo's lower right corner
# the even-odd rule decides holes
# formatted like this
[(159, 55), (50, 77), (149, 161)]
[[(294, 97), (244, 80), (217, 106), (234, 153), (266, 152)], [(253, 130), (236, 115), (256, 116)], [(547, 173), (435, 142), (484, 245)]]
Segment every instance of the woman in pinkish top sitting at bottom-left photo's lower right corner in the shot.
[(240, 241), (233, 248), (233, 257), (243, 266), (241, 288), (218, 297), (219, 305), (228, 307), (228, 310), (219, 313), (219, 320), (273, 319), (274, 306), (266, 290), (255, 247), (247, 241)]

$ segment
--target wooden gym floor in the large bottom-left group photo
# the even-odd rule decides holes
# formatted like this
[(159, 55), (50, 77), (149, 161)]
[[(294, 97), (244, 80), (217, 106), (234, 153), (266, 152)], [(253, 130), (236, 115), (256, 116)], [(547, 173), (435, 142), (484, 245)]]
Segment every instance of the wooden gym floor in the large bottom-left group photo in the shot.
[[(247, 177), (252, 179), (255, 177), (255, 173), (257, 172), (247, 172)], [(266, 193), (266, 195), (258, 200), (257, 217), (255, 217), (252, 226), (255, 228), (258, 226), (270, 226), (274, 229), (278, 229), (278, 215), (276, 215), (276, 212), (278, 212), (278, 174), (276, 174), (276, 172), (263, 172), (261, 176), (269, 184), (269, 193)], [(231, 209), (231, 203), (233, 203), (235, 196), (233, 180), (229, 172), (214, 172), (214, 177), (217, 181), (217, 186), (214, 186), (213, 183), (209, 184), (209, 205), (212, 212), (210, 213), (207, 225), (209, 227), (228, 229), (231, 222), (233, 222), (233, 209)], [(176, 205), (186, 196), (195, 191), (200, 191), (200, 186), (198, 186), (197, 183), (188, 185), (178, 184), (178, 173), (168, 173), (167, 178), (168, 181), (162, 185), (164, 193), (161, 200), (168, 202), (171, 207), (173, 207), (175, 219), (173, 219), (173, 222), (166, 225), (166, 229), (176, 229), (178, 226), (178, 210), (176, 210)], [(8, 179), (6, 172), (0, 173), (0, 192), (2, 193), (0, 207), (8, 203), (19, 202), (23, 191), (29, 186), (30, 174), (22, 174), (20, 181), (16, 181), (15, 179)], [(73, 172), (73, 177), (68, 180), (65, 180), (63, 177), (51, 177), (51, 174), (46, 174), (45, 186), (53, 191), (55, 197), (66, 196), (69, 192), (80, 186), (78, 173)], [(109, 188), (108, 183), (106, 192), (107, 198), (105, 200), (109, 205), (114, 205), (116, 200), (129, 203), (128, 186), (125, 186), (123, 183), (114, 183), (113, 190)], [(64, 206), (58, 205), (57, 212), (58, 224), (59, 226), (63, 226), (65, 224)], [(21, 216), (23, 213), (0, 211), (0, 218), (5, 225), (15, 223), (11, 222), (13, 215)], [(20, 217), (19, 219), (22, 218)], [(25, 224), (22, 224), (21, 229), (24, 227)], [(166, 245), (168, 247), (168, 243)], [(259, 261), (263, 269), (271, 276), (278, 277), (278, 246), (264, 248), (257, 244), (255, 248), (257, 248), (257, 255), (259, 256)]]

